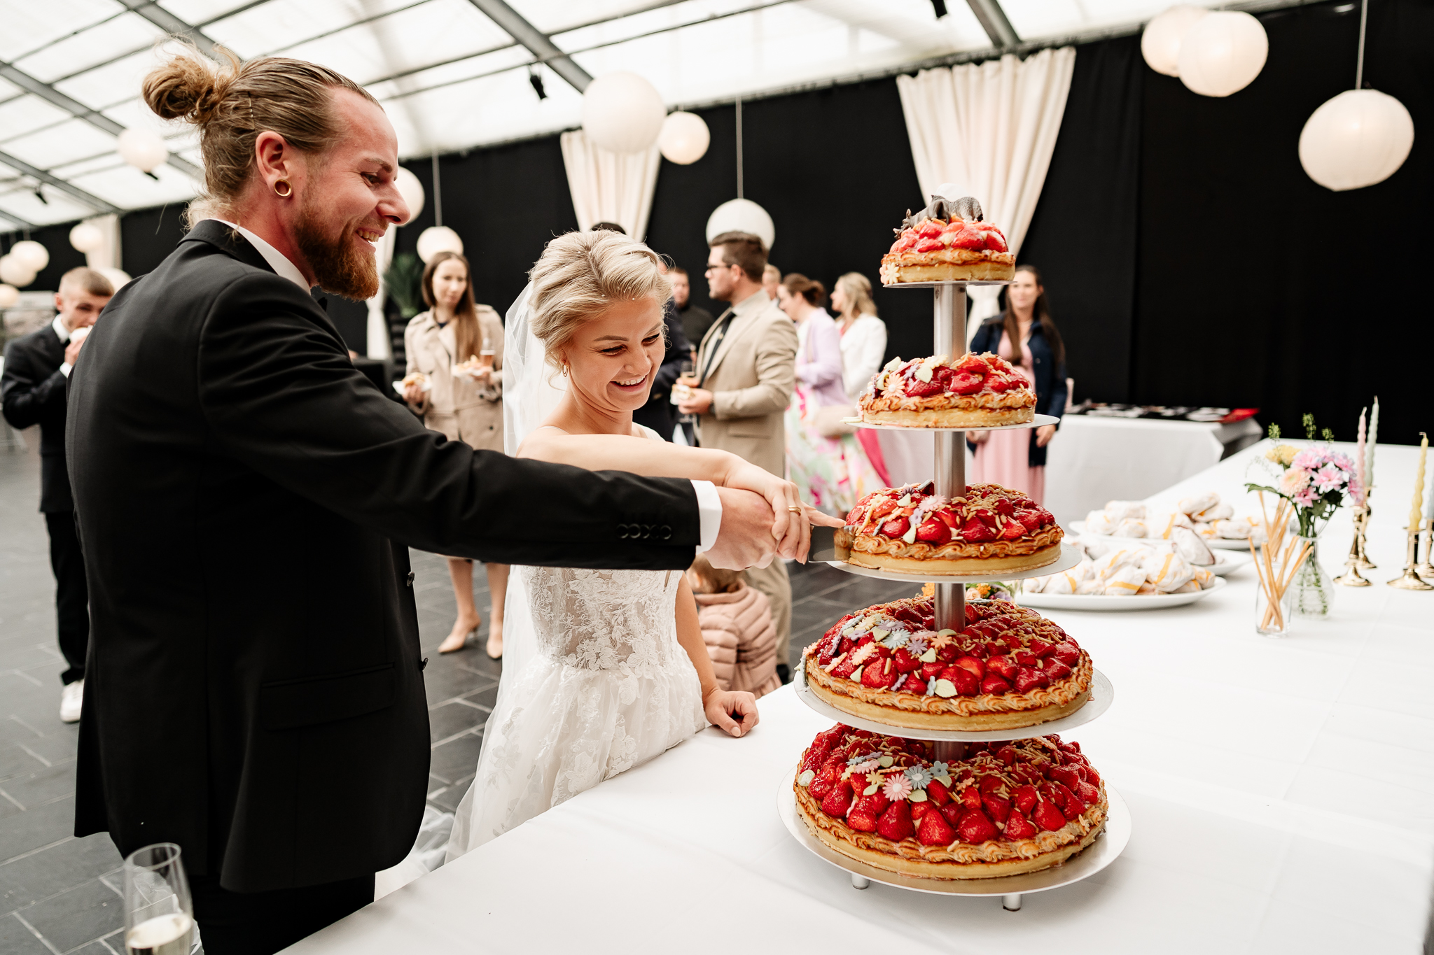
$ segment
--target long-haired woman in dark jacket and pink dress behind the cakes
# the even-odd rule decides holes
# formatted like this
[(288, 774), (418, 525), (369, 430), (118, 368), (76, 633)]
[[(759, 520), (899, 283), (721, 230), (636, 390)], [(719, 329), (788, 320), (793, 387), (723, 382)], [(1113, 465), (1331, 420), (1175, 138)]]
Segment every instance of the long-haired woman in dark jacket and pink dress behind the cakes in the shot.
[[(995, 352), (1011, 362), (1034, 384), (1035, 414), (1060, 418), (1065, 411), (1065, 344), (1051, 321), (1040, 269), (1015, 266), (1005, 301), (1005, 311), (977, 329), (971, 351)], [(1025, 491), (1040, 504), (1045, 497), (1045, 445), (1057, 427), (968, 431), (967, 440), (975, 450), (971, 480)]]

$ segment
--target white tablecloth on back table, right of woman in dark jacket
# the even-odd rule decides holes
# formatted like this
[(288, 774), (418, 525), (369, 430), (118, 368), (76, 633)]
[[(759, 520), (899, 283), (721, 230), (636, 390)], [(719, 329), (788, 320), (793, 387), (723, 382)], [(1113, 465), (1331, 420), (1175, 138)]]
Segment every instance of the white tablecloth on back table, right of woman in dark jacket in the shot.
[(1065, 415), (1045, 455), (1045, 507), (1061, 523), (1106, 501), (1139, 501), (1213, 467), (1226, 445), (1258, 440), (1253, 420), (1235, 424)]

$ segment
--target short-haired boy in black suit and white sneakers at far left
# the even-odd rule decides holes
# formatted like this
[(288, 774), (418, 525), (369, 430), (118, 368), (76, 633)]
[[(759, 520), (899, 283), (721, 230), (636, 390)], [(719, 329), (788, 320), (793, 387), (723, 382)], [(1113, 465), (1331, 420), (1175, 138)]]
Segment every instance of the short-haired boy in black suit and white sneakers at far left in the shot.
[[(85, 699), (85, 649), (89, 646), (89, 594), (85, 558), (75, 534), (75, 501), (65, 468), (65, 385), (79, 358), (85, 334), (115, 294), (95, 269), (70, 269), (54, 294), (54, 321), (14, 339), (4, 349), (0, 407), (13, 428), (40, 425), (40, 513), (50, 531), (54, 571), (54, 621), (65, 672), (60, 719), (76, 723)], [(80, 332), (80, 329), (85, 332)]]

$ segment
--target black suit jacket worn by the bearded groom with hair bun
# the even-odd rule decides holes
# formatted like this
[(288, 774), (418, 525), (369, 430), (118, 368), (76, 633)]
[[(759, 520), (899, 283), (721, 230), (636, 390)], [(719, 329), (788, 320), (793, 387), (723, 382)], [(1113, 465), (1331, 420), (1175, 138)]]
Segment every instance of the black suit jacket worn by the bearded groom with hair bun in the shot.
[(239, 892), (413, 846), (429, 719), (407, 547), (685, 568), (691, 483), (445, 441), (219, 222), (110, 301), (70, 382), (90, 583), (76, 835)]

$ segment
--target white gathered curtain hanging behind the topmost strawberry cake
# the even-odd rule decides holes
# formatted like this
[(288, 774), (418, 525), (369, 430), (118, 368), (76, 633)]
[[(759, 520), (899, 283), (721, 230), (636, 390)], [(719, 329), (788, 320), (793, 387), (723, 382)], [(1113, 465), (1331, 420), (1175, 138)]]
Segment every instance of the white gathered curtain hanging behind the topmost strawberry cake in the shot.
[[(1021, 62), (1014, 54), (985, 63), (898, 76), (902, 113), (911, 137), (922, 203), (936, 186), (952, 182), (975, 196), (1020, 253), (1076, 67), (1076, 47), (1041, 50)], [(998, 311), (999, 288), (968, 289), (972, 301), (968, 341), (977, 325)]]

